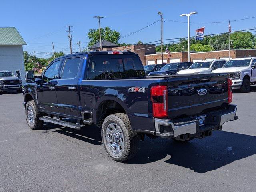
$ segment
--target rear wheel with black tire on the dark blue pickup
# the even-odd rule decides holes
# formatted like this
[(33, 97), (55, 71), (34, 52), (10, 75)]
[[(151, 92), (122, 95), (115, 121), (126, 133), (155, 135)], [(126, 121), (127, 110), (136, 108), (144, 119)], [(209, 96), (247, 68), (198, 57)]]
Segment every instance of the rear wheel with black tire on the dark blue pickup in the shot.
[[(132, 131), (126, 114), (116, 113), (107, 116), (102, 124), (101, 136), (104, 148), (113, 160), (124, 162), (135, 156), (139, 137), (136, 132)], [(118, 145), (115, 151), (115, 147), (112, 146)]]

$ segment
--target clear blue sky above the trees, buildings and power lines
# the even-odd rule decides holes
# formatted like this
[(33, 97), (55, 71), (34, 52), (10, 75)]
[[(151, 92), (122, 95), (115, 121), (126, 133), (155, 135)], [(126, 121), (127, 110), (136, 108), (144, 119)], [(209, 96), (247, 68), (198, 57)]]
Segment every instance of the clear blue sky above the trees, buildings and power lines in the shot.
[[(256, 16), (255, 0), (1, 0), (1, 27), (16, 27), (27, 45), (24, 50), (33, 52), (69, 52), (66, 25), (72, 25), (74, 51), (78, 51), (76, 42), (87, 47), (89, 28), (98, 28), (94, 16), (104, 16), (102, 27), (109, 26), (120, 32), (121, 36), (134, 32), (160, 19), (186, 22), (180, 14), (197, 11), (190, 22), (219, 22)], [(194, 36), (196, 28), (205, 26), (205, 34), (228, 31), (227, 23), (191, 24), (190, 33)], [(231, 22), (232, 31), (256, 28), (256, 18)], [(254, 33), (256, 34), (256, 33)], [(164, 22), (164, 39), (187, 36), (187, 24)], [(136, 44), (160, 40), (160, 22), (125, 38), (119, 42)], [(38, 54), (48, 58), (50, 54)]]

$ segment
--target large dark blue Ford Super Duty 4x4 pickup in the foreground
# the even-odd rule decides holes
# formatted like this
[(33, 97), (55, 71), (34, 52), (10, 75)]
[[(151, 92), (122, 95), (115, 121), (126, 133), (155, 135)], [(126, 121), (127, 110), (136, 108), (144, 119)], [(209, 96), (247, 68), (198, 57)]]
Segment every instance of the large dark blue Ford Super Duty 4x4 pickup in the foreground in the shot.
[(236, 120), (231, 85), (228, 74), (150, 78), (132, 52), (82, 52), (56, 58), (42, 76), (28, 71), (24, 107), (31, 129), (102, 127), (106, 151), (121, 162), (145, 135), (187, 142)]

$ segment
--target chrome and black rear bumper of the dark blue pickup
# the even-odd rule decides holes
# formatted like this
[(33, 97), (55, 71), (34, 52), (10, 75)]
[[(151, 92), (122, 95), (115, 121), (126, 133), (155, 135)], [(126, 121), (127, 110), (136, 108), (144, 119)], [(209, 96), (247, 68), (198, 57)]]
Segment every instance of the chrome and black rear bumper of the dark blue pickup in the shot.
[(225, 122), (236, 120), (236, 105), (230, 105), (228, 109), (210, 112), (200, 116), (206, 116), (208, 123), (199, 126), (198, 120), (182, 120), (182, 122), (174, 122), (170, 119), (154, 119), (156, 135), (163, 138), (175, 138), (184, 134), (198, 136), (212, 130), (222, 129)]

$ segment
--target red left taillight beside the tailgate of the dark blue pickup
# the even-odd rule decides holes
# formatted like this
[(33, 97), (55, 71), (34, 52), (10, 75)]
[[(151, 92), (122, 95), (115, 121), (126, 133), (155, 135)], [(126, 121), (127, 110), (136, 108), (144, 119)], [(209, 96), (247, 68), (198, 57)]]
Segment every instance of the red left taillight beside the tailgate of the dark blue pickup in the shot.
[(167, 117), (167, 86), (158, 85), (152, 86), (151, 101), (153, 102), (153, 115), (154, 117)]

